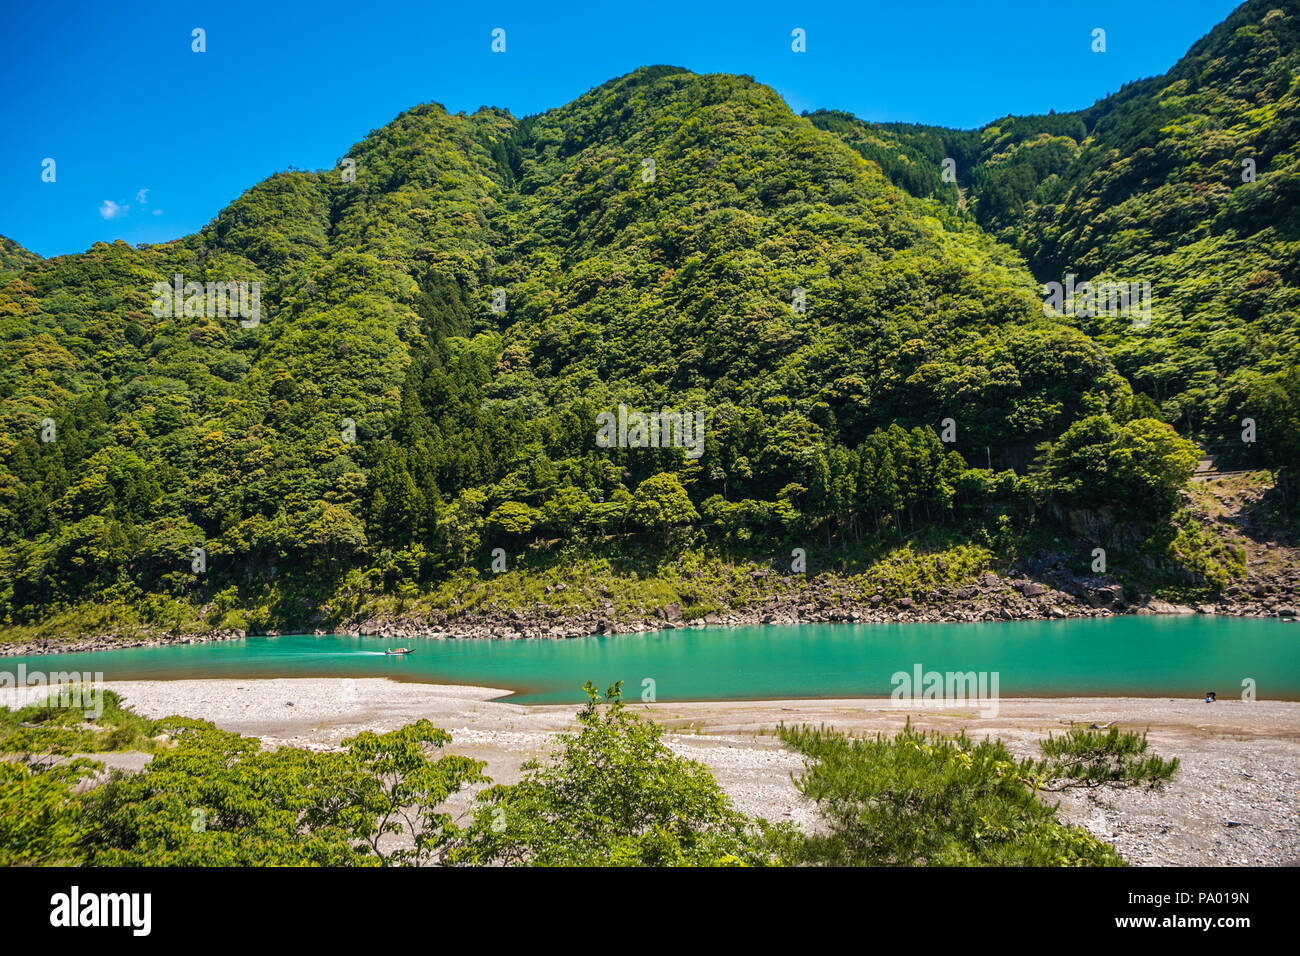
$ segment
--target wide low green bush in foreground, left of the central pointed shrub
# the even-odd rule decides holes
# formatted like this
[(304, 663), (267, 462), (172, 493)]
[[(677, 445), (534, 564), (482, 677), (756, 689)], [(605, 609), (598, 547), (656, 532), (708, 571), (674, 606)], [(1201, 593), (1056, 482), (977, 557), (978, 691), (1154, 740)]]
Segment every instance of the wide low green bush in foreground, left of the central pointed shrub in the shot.
[[(365, 732), (343, 752), (260, 749), (254, 737), (172, 718), (176, 747), (83, 799), (78, 852), (100, 866), (372, 866), (437, 857), (458, 829), (438, 806), (482, 765), (429, 758), (428, 721)], [(385, 843), (402, 835), (410, 845)]]

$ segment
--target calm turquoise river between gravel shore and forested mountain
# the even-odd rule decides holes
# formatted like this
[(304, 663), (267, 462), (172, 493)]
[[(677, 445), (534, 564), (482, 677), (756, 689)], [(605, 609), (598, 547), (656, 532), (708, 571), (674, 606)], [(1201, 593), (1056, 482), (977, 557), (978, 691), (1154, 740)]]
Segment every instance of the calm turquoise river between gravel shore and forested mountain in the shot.
[[(385, 648), (407, 645), (406, 657)], [(1300, 700), (1300, 623), (1217, 617), (1119, 617), (978, 624), (805, 624), (679, 628), (569, 640), (250, 637), (214, 644), (0, 658), (0, 685), (34, 672), (104, 680), (395, 678), (480, 684), (524, 704), (582, 697), (588, 679), (654, 682), (664, 700), (876, 697), (890, 678), (926, 671), (998, 674), (1001, 697), (1239, 697)], [(5, 679), (5, 675), (8, 679)]]

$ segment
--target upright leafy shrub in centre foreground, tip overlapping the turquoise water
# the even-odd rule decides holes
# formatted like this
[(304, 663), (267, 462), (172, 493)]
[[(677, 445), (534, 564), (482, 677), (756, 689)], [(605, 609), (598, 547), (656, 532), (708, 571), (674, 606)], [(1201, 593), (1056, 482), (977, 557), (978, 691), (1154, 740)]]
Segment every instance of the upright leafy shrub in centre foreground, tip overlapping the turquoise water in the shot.
[[(766, 826), (736, 810), (702, 763), (677, 757), (663, 728), (602, 702), (588, 682), (578, 730), (547, 762), (478, 796), (460, 862), (533, 866), (740, 866), (774, 858)], [(775, 838), (774, 838), (775, 839)]]

